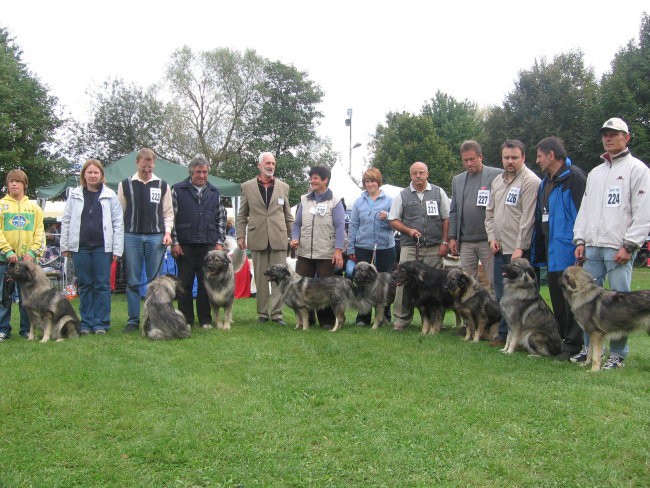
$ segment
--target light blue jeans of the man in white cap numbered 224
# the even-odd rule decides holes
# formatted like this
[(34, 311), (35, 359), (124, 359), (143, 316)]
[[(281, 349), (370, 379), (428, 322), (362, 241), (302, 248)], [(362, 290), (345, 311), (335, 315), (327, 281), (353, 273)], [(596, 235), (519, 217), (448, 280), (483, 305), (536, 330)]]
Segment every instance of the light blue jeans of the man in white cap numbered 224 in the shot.
[[(636, 257), (636, 253), (632, 255), (626, 264), (617, 265), (614, 261), (614, 256), (618, 249), (611, 247), (585, 247), (585, 264), (584, 268), (589, 271), (594, 278), (597, 278), (596, 283), (603, 286), (605, 280), (605, 273), (607, 273), (607, 281), (609, 282), (610, 290), (614, 291), (630, 291), (630, 284), (632, 283), (632, 263)], [(584, 344), (589, 346), (589, 335), (584, 334)], [(622, 357), (627, 357), (630, 353), (630, 346), (627, 343), (627, 336), (620, 339), (610, 339), (609, 352), (618, 354)]]

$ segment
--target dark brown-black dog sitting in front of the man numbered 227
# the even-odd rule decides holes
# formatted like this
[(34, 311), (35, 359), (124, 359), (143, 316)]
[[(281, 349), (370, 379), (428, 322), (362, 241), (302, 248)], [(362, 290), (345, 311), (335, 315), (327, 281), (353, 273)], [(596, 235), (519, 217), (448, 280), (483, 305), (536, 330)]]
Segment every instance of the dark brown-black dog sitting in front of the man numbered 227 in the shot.
[(449, 271), (447, 290), (453, 298), (454, 310), (465, 320), (465, 340), (489, 339), (490, 329), (501, 320), (501, 309), (490, 292), (460, 268)]

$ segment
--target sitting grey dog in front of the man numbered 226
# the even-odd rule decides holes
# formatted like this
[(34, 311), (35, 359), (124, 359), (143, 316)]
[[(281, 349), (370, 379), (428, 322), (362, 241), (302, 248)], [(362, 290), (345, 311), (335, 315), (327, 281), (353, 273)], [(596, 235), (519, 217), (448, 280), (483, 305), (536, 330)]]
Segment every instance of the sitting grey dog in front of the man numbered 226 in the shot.
[(506, 345), (512, 354), (517, 346), (534, 356), (557, 356), (562, 347), (555, 315), (537, 289), (535, 270), (527, 259), (513, 260), (503, 267), (501, 312), (508, 322)]

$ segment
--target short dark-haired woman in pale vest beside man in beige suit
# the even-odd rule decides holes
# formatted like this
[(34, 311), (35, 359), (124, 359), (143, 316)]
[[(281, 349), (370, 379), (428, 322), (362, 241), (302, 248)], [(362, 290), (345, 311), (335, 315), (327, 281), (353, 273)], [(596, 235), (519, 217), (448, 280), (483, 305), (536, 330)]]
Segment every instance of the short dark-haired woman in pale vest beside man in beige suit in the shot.
[[(291, 229), (291, 248), (297, 249), (296, 273), (321, 278), (332, 276), (343, 267), (345, 245), (345, 209), (341, 199), (328, 189), (332, 172), (325, 166), (309, 171), (311, 192), (302, 197)], [(313, 316), (310, 313), (310, 323)], [(321, 327), (332, 328), (335, 317), (331, 308), (318, 311)]]

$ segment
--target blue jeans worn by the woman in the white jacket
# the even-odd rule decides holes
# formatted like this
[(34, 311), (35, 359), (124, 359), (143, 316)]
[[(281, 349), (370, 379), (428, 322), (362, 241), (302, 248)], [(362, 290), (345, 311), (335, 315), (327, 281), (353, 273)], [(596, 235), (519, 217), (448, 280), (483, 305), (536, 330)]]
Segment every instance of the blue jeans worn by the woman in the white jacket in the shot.
[(111, 325), (111, 261), (104, 246), (79, 246), (72, 253), (77, 273), (81, 330), (108, 330)]

